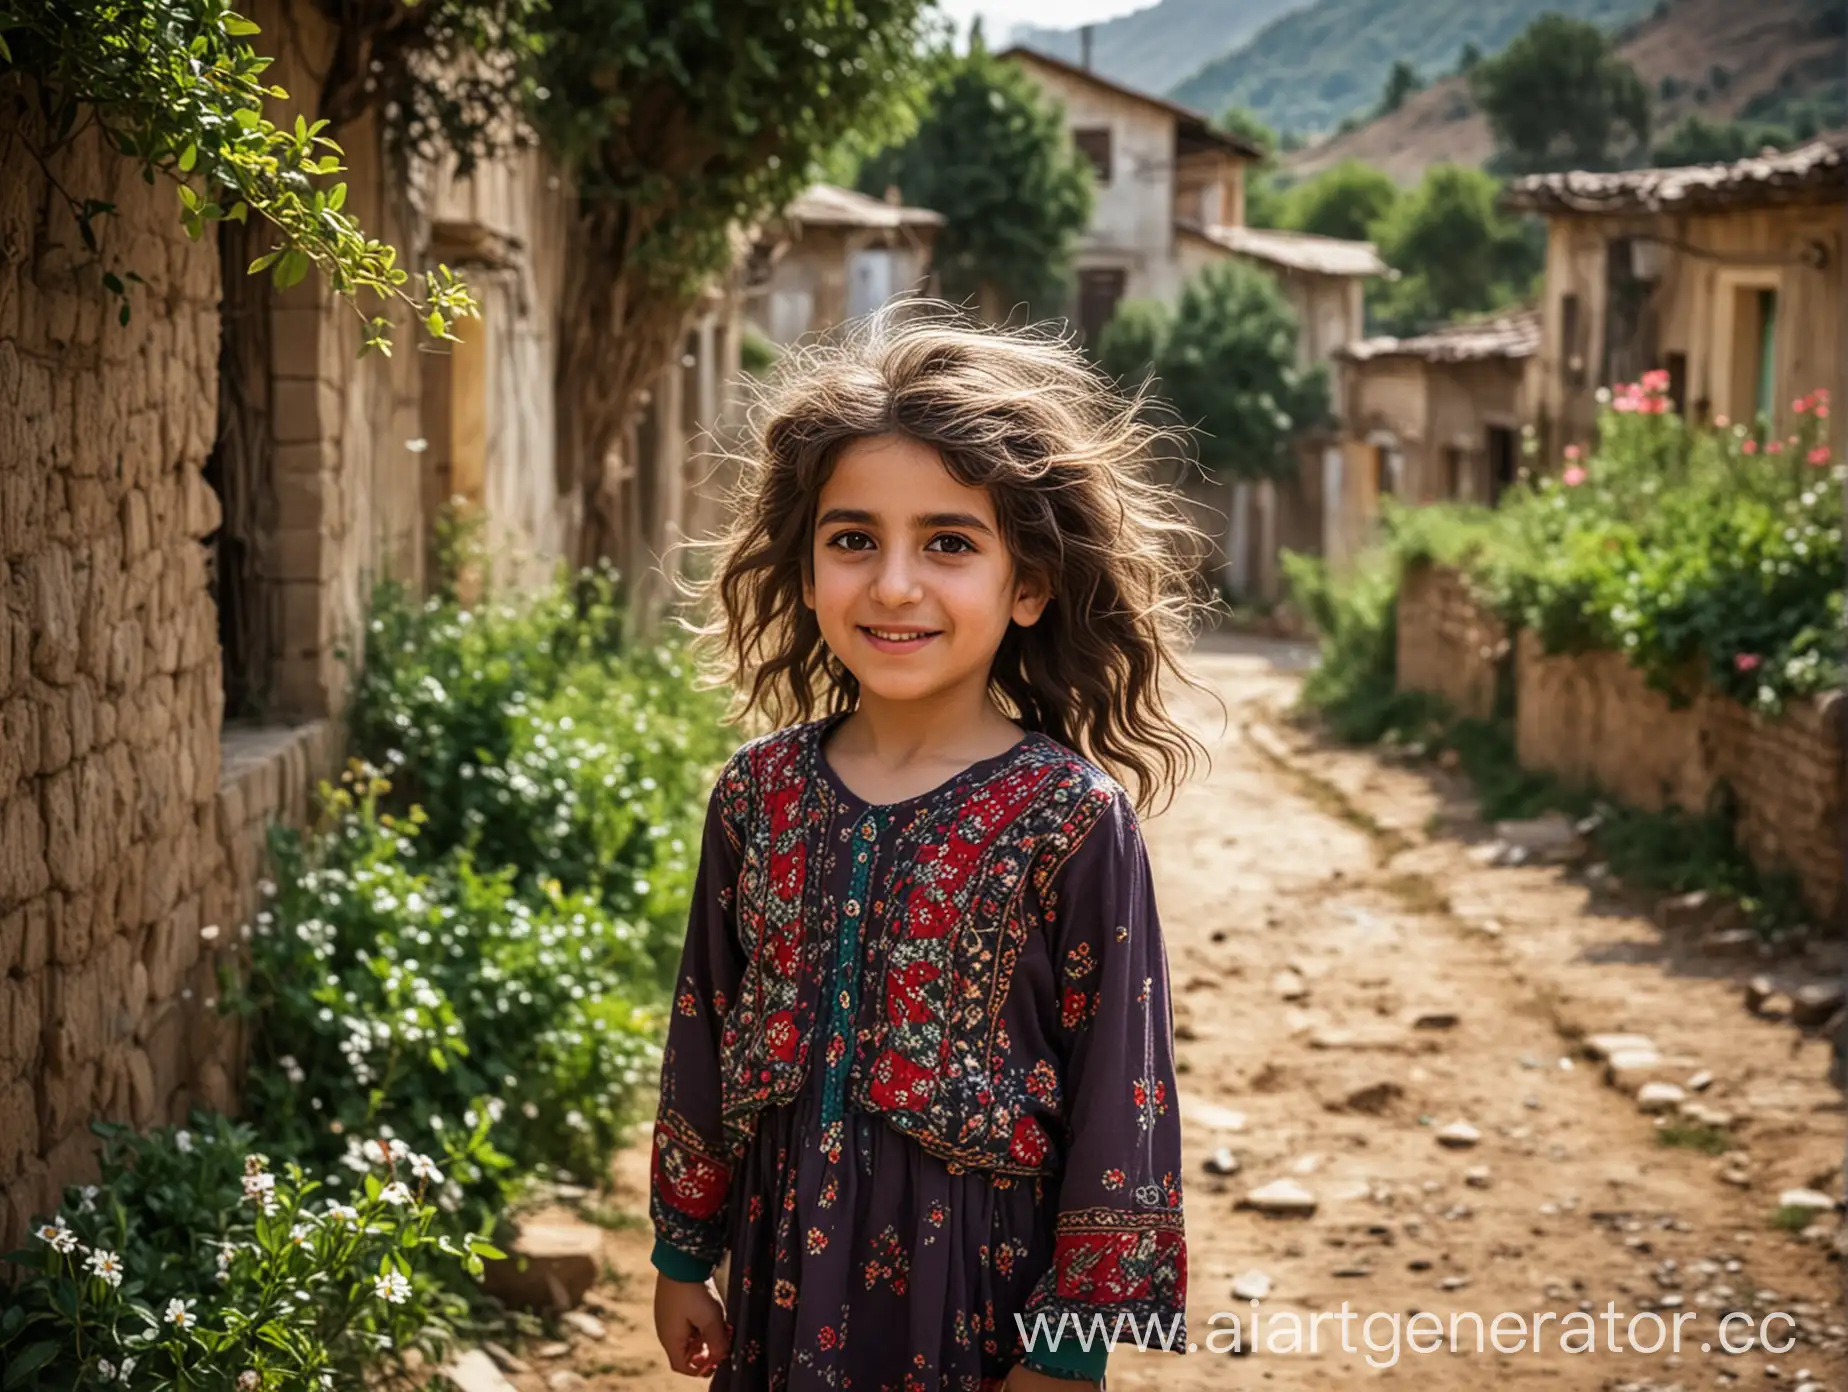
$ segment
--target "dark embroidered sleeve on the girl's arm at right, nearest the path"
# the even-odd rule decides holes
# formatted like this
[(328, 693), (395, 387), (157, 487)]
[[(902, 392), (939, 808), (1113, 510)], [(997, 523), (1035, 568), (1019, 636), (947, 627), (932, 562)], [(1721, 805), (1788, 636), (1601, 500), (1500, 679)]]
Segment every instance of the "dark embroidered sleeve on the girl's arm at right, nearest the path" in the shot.
[(1148, 849), (1122, 793), (1059, 867), (1050, 897), (1066, 1148), (1052, 1268), (1027, 1298), (1024, 1329), (1064, 1337), (1037, 1340), (1022, 1361), (1096, 1379), (1105, 1340), (1135, 1340), (1131, 1322), (1146, 1348), (1186, 1351), (1168, 954)]

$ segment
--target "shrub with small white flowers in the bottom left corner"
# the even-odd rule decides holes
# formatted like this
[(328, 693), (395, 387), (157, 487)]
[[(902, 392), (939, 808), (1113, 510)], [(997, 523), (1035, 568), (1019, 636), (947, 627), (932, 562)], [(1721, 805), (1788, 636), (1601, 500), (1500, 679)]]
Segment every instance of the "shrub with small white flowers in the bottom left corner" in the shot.
[(434, 1233), (434, 1161), (373, 1139), (344, 1198), (272, 1168), (224, 1117), (133, 1135), (98, 1126), (102, 1185), (7, 1253), (26, 1276), (0, 1316), (6, 1386), (347, 1388), (462, 1313), (432, 1263), (501, 1255)]

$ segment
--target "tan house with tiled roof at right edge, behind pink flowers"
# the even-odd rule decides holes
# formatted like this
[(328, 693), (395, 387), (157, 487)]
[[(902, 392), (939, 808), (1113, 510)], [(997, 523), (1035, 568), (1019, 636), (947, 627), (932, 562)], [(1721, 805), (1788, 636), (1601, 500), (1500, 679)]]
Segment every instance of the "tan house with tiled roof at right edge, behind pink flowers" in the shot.
[(1733, 165), (1539, 174), (1512, 209), (1547, 218), (1536, 410), (1549, 457), (1586, 442), (1600, 386), (1669, 373), (1691, 420), (1765, 416), (1842, 385), (1848, 135)]

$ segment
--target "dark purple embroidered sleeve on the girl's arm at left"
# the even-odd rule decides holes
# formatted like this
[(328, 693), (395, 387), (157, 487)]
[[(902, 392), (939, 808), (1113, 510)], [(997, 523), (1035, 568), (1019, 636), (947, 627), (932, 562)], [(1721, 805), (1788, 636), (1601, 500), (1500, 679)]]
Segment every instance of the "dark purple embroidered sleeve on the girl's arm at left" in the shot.
[(649, 1165), (652, 1263), (676, 1281), (704, 1281), (726, 1244), (732, 1157), (721, 1124), (719, 1033), (745, 972), (736, 930), (741, 847), (726, 819), (730, 773), (721, 775), (706, 806)]

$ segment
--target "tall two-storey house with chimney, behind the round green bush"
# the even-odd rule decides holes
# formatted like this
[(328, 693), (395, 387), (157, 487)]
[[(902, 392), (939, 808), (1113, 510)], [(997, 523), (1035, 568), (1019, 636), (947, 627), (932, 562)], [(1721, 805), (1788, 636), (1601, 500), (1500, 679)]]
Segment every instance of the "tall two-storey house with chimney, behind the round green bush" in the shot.
[[(1303, 364), (1329, 362), (1364, 333), (1362, 287), (1386, 274), (1369, 242), (1247, 227), (1246, 177), (1264, 152), (1207, 116), (1031, 48), (1009, 48), (1064, 111), (1090, 161), (1096, 209), (1077, 250), (1074, 325), (1094, 342), (1122, 299), (1173, 305), (1190, 277), (1244, 259), (1290, 298)], [(1281, 549), (1321, 549), (1323, 475), (1332, 436), (1299, 442), (1303, 466), (1283, 482), (1212, 488), (1185, 477), (1198, 525), (1212, 536), (1207, 568), (1233, 593), (1275, 597)]]

